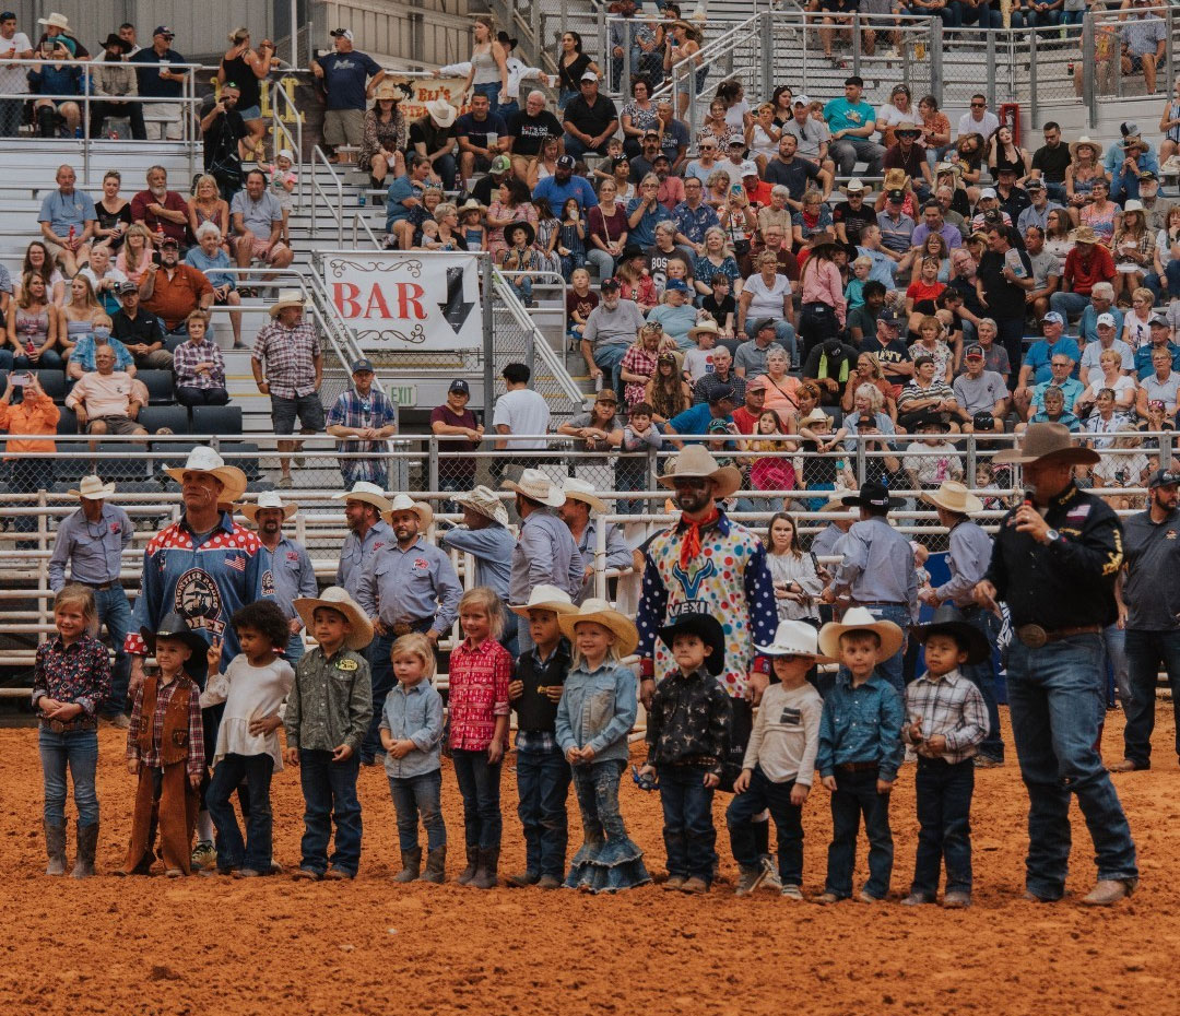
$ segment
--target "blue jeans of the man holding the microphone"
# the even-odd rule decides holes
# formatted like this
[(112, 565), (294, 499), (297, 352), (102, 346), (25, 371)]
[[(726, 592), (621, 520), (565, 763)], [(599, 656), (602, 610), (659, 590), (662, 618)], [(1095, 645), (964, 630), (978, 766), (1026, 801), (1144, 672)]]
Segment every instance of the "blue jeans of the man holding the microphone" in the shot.
[(1069, 867), (1069, 795), (1094, 841), (1100, 879), (1136, 878), (1135, 844), (1099, 754), (1103, 716), (1100, 635), (1075, 635), (1008, 650), (1008, 704), (1021, 776), (1029, 793), (1025, 887), (1058, 899)]

